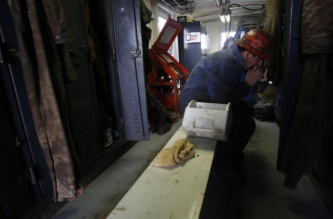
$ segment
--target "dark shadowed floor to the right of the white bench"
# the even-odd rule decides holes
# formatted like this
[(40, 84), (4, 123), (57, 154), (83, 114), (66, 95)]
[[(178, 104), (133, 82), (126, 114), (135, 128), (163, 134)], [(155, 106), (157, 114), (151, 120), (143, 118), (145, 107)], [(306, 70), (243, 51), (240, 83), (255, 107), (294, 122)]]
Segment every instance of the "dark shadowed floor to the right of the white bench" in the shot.
[(276, 123), (256, 120), (256, 130), (244, 150), (247, 182), (223, 179), (212, 166), (200, 218), (332, 219), (307, 176), (295, 190), (282, 186), (285, 177), (275, 169), (278, 139)]

